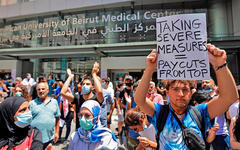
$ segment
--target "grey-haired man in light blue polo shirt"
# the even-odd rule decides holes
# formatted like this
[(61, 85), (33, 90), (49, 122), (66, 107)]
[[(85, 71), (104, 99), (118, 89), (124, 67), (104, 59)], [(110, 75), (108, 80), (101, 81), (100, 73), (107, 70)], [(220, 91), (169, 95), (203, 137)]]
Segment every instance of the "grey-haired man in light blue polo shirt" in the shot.
[(49, 88), (47, 82), (38, 83), (38, 98), (29, 102), (33, 116), (31, 126), (41, 131), (44, 149), (48, 146), (51, 147), (53, 141), (55, 143), (58, 141), (59, 117), (61, 115), (57, 101), (49, 97), (48, 92)]

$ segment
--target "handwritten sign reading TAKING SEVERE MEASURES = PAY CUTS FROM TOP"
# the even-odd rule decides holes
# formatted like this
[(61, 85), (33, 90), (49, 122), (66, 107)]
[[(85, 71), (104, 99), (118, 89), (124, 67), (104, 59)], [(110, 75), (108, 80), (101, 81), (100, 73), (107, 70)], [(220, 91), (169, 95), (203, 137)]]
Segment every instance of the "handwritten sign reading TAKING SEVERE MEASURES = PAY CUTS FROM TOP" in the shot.
[(210, 79), (205, 14), (157, 18), (158, 79)]

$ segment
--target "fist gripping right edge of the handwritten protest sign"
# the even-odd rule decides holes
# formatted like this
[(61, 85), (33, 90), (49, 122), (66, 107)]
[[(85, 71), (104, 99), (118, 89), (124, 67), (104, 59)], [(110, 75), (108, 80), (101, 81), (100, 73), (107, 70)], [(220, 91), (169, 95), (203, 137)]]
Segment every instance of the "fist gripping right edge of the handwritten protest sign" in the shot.
[(214, 45), (207, 44), (209, 61), (216, 69), (217, 67), (226, 63), (227, 54), (224, 50), (221, 50)]

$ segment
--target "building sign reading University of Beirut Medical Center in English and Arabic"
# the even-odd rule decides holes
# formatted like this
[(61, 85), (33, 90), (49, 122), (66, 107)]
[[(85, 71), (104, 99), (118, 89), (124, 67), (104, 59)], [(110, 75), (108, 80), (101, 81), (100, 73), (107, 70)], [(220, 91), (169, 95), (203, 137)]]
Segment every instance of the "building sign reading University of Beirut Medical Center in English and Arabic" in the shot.
[(205, 9), (95, 11), (3, 25), (0, 48), (155, 41), (156, 18)]

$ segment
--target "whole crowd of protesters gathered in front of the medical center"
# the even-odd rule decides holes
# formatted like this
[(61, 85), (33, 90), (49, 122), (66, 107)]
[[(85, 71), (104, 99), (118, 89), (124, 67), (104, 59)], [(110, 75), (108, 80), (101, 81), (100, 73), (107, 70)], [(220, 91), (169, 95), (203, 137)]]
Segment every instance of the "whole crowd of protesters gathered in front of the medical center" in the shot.
[[(69, 150), (115, 150), (123, 138), (127, 150), (193, 149), (184, 128), (201, 139), (197, 149), (240, 149), (240, 87), (226, 65), (225, 51), (213, 45), (208, 51), (216, 81), (152, 81), (155, 50), (138, 81), (128, 74), (116, 81), (101, 79), (97, 62), (91, 75), (82, 78), (68, 69), (66, 81), (53, 75), (34, 80), (30, 73), (23, 80), (1, 79), (0, 150), (50, 150), (58, 142)], [(111, 131), (114, 110), (118, 126)], [(76, 129), (70, 135), (72, 123)]]

